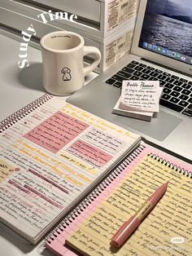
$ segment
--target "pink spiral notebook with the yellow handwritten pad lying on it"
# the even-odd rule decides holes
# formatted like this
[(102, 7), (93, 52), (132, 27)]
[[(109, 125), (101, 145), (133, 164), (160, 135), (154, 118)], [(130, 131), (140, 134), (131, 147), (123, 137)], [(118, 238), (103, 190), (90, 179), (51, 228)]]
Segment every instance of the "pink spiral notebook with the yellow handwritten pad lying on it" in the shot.
[[(162, 183), (168, 190), (120, 249), (111, 237)], [(56, 255), (192, 255), (192, 166), (139, 146), (46, 238)]]

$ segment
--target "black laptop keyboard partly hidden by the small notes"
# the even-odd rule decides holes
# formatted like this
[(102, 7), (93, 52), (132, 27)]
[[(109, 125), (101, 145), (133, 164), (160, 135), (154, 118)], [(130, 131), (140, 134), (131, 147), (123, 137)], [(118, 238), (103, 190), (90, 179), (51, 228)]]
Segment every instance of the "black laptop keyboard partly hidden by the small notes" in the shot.
[(106, 82), (118, 88), (123, 80), (159, 81), (164, 87), (159, 104), (192, 117), (192, 82), (133, 60)]

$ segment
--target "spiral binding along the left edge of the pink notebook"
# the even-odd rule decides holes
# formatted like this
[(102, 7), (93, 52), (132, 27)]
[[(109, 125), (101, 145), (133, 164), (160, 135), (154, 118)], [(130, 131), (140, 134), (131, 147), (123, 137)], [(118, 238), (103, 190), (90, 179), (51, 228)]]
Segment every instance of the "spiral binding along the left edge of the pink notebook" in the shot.
[(94, 189), (88, 196), (85, 197), (83, 201), (79, 205), (76, 206), (74, 210), (67, 217), (63, 218), (63, 220), (53, 229), (52, 232), (45, 238), (45, 242), (50, 244), (55, 240), (57, 234), (64, 232), (65, 228), (72, 223), (72, 221), (78, 217), (81, 212), (83, 212), (89, 204), (94, 201), (100, 193), (103, 192), (110, 185), (110, 183), (116, 179), (116, 177), (127, 167), (129, 164), (142, 152), (142, 150), (146, 148), (145, 145), (140, 144), (134, 152), (130, 154), (129, 157), (126, 157), (115, 170), (112, 170), (111, 174), (107, 176), (106, 179), (103, 180), (102, 183), (98, 185), (97, 188)]

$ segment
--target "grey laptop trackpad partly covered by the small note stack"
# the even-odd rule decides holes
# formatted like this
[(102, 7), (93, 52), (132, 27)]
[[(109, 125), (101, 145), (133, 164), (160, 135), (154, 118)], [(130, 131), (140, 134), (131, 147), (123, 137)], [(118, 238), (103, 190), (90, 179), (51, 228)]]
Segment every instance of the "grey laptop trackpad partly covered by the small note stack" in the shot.
[(150, 122), (117, 115), (113, 115), (112, 119), (119, 126), (125, 126), (127, 129), (129, 126), (159, 141), (163, 141), (182, 121), (181, 118), (173, 117), (163, 111), (160, 111), (158, 117), (152, 118)]

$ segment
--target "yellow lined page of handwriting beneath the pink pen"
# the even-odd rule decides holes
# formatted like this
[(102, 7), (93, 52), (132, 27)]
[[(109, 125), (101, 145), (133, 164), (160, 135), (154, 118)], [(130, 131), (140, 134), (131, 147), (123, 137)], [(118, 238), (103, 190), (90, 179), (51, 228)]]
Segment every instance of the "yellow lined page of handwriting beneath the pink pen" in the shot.
[[(124, 171), (128, 174), (116, 188), (110, 185), (107, 196), (102, 193), (89, 205), (83, 213), (83, 216), (89, 213), (84, 220), (79, 215), (80, 224), (77, 218), (67, 245), (91, 256), (192, 254), (192, 179), (147, 156), (146, 152), (142, 153), (141, 161), (136, 161), (131, 174), (130, 166)], [(120, 249), (111, 248), (111, 237), (117, 229), (165, 182), (168, 182), (168, 191), (151, 214)], [(175, 243), (175, 237), (179, 237), (181, 243)]]

